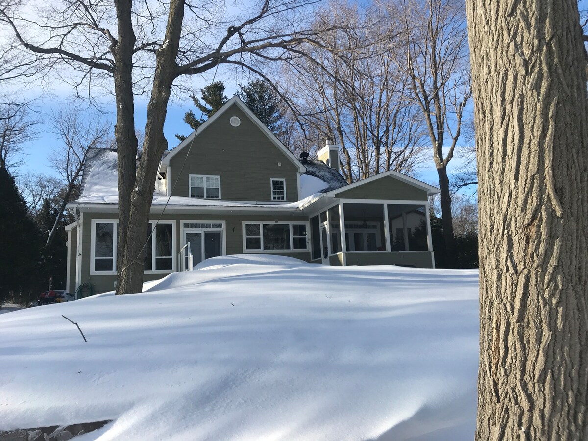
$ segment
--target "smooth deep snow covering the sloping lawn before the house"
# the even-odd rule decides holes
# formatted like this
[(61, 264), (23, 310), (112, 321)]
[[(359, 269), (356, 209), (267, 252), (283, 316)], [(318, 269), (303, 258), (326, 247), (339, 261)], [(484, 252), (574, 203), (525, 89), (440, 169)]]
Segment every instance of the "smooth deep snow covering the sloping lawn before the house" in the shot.
[[(462, 440), (478, 274), (225, 256), (0, 316), (0, 430), (79, 440)], [(62, 318), (78, 322), (78, 329)]]

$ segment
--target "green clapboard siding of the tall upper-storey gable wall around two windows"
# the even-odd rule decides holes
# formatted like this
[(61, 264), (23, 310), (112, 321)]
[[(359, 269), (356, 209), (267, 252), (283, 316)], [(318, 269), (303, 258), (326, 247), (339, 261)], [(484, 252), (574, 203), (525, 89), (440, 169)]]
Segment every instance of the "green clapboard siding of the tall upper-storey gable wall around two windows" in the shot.
[[(240, 118), (238, 127), (230, 125), (231, 116)], [(196, 136), (186, 158), (188, 149), (169, 161), (172, 196), (189, 196), (189, 175), (214, 175), (225, 201), (270, 202), (271, 178), (286, 179), (286, 202), (298, 201), (298, 167), (236, 105)]]

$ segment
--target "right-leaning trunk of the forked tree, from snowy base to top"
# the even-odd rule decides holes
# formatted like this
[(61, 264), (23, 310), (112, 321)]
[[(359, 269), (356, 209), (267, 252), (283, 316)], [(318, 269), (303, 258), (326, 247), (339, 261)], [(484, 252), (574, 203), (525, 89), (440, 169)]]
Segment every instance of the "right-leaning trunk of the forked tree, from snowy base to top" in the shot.
[(183, 0), (172, 0), (169, 5), (165, 43), (156, 52), (155, 78), (151, 100), (147, 106), (145, 141), (131, 192), (131, 210), (126, 230), (126, 253), (119, 271), (117, 294), (141, 292), (143, 287), (143, 252), (148, 235), (149, 213), (157, 168), (168, 143), (163, 136), (163, 123), (167, 112), (173, 80), (177, 75), (176, 56), (183, 21)]

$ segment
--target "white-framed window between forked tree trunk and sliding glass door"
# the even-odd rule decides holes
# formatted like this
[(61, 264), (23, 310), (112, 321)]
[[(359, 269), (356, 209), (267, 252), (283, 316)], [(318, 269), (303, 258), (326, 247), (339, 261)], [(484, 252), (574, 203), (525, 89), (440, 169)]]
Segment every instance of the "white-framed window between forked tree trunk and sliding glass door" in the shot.
[[(151, 236), (149, 236), (151, 235)], [(173, 270), (173, 223), (160, 221), (153, 229), (153, 223), (149, 223), (147, 231), (148, 240), (145, 245), (145, 271)], [(155, 252), (153, 252), (155, 250)]]

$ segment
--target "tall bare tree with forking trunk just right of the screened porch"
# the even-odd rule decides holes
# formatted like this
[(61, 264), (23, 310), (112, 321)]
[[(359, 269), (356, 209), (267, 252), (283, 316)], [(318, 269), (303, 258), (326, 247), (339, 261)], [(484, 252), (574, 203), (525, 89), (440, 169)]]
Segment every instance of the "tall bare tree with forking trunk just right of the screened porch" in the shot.
[(456, 263), (447, 165), (462, 135), (470, 89), (469, 52), (462, 0), (398, 0), (389, 9), (403, 17), (403, 56), (409, 98), (420, 108), (439, 175), (447, 262)]

